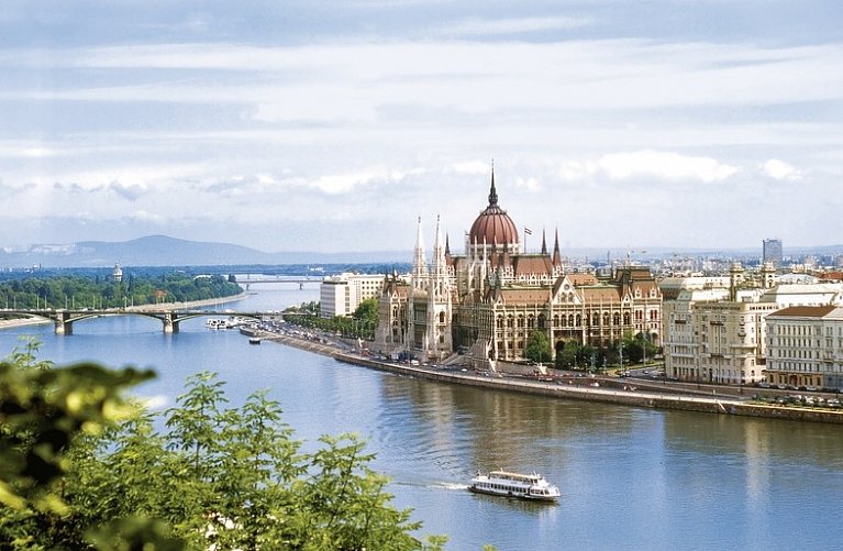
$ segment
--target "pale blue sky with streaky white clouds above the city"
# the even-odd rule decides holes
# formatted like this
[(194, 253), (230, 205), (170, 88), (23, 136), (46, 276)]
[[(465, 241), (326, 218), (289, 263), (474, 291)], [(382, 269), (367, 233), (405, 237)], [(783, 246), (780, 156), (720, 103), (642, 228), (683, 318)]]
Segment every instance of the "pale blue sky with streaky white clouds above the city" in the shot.
[(839, 0), (3, 0), (0, 246), (843, 243)]

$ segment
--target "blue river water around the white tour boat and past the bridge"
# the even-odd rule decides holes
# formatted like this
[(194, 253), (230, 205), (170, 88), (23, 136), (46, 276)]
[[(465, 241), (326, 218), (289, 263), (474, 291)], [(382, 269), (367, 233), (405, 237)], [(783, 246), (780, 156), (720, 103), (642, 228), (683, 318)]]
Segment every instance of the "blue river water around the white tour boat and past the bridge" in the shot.
[[(285, 288), (287, 287), (287, 288)], [(220, 308), (276, 310), (318, 300), (318, 286), (252, 286)], [(206, 329), (165, 335), (141, 317), (99, 318), (56, 337), (52, 324), (0, 331), (0, 355), (34, 334), (40, 357), (151, 366), (137, 392), (168, 407), (185, 379), (218, 372), (239, 404), (269, 388), (313, 449), (357, 432), (392, 478), (395, 505), (448, 550), (838, 549), (843, 546), (843, 427), (565, 401), (400, 377)], [(557, 505), (478, 496), (478, 469), (544, 474)]]

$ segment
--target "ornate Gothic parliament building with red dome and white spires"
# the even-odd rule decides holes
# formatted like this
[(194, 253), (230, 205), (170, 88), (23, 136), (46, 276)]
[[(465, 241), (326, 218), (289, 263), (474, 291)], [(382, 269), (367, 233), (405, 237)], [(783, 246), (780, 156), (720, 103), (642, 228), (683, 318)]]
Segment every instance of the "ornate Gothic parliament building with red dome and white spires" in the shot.
[(604, 277), (569, 272), (558, 233), (552, 252), (544, 232), (540, 252), (523, 250), (498, 202), (493, 170), (488, 201), (465, 233), (463, 254), (452, 253), (436, 220), (430, 265), (419, 219), (411, 274), (385, 278), (375, 350), (423, 361), (462, 353), (493, 367), (523, 360), (533, 331), (545, 333), (554, 355), (569, 341), (613, 348), (642, 333), (661, 342), (662, 294), (647, 267), (628, 263)]

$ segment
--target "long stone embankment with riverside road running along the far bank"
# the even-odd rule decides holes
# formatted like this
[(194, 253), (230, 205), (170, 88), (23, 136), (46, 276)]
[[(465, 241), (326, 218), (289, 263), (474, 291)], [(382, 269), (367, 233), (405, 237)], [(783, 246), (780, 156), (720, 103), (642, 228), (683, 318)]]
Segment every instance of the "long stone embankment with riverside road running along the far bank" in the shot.
[[(717, 396), (701, 396), (683, 392), (652, 392), (640, 389), (612, 389), (591, 386), (580, 386), (567, 381), (543, 382), (523, 377), (497, 375), (487, 376), (461, 370), (444, 370), (431, 366), (414, 366), (395, 362), (375, 360), (368, 356), (344, 352), (334, 344), (315, 340), (291, 337), (262, 330), (242, 330), (246, 334), (260, 337), (263, 340), (278, 342), (288, 346), (315, 352), (331, 356), (339, 362), (359, 365), (373, 370), (395, 373), (398, 375), (423, 378), (445, 384), (458, 384), (479, 388), (515, 392), (550, 396), (564, 399), (601, 401), (633, 407), (698, 411), (705, 414), (732, 415), (743, 417), (763, 417), (770, 419), (787, 419), (795, 421), (843, 423), (843, 411), (835, 409), (770, 406), (747, 400)], [(607, 381), (607, 377), (588, 379), (594, 382)], [(632, 386), (628, 385), (628, 388)]]

